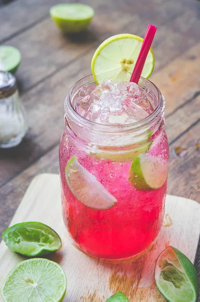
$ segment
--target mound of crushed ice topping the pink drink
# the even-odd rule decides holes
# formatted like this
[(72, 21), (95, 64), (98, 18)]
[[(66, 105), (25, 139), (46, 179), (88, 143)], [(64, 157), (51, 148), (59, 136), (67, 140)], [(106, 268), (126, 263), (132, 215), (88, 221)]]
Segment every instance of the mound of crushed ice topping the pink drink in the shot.
[(147, 117), (152, 112), (150, 105), (135, 83), (114, 83), (112, 80), (98, 85), (91, 94), (77, 103), (78, 113), (86, 119), (117, 125)]

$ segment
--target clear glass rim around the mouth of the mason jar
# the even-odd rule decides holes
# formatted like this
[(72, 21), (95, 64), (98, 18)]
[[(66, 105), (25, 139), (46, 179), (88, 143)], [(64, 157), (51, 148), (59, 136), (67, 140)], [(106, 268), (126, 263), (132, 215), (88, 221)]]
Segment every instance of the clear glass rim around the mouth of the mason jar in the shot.
[[(95, 131), (104, 131), (104, 132), (127, 132), (127, 131), (136, 131), (142, 128), (146, 128), (146, 126), (148, 124), (151, 124), (153, 122), (153, 120), (159, 116), (162, 115), (163, 111), (164, 111), (164, 107), (165, 107), (165, 101), (164, 101), (164, 97), (162, 96), (160, 90), (157, 88), (156, 85), (154, 85), (151, 81), (140, 77), (139, 83), (138, 85), (142, 82), (146, 82), (149, 83), (150, 85), (152, 85), (152, 87), (156, 90), (157, 94), (158, 94), (158, 104), (156, 106), (156, 108), (154, 109), (154, 111), (149, 114), (147, 117), (145, 117), (144, 119), (141, 119), (139, 121), (130, 123), (130, 124), (121, 124), (121, 125), (106, 125), (106, 124), (100, 124), (97, 122), (93, 122), (90, 120), (85, 119), (83, 116), (81, 116), (78, 112), (76, 112), (76, 110), (74, 109), (72, 103), (71, 103), (71, 99), (73, 97), (73, 90), (74, 88), (81, 82), (81, 81), (87, 81), (90, 82), (91, 84), (95, 84), (95, 81), (93, 79), (92, 74), (87, 75), (86, 77), (83, 77), (82, 79), (80, 79), (79, 81), (77, 81), (70, 89), (65, 101), (64, 101), (64, 108), (65, 108), (65, 113), (66, 115), (72, 119), (74, 122), (82, 124), (84, 127), (87, 128), (93, 128), (95, 129)], [(86, 82), (87, 83), (87, 82)], [(86, 85), (86, 84), (85, 84)], [(140, 85), (139, 85), (140, 86)]]

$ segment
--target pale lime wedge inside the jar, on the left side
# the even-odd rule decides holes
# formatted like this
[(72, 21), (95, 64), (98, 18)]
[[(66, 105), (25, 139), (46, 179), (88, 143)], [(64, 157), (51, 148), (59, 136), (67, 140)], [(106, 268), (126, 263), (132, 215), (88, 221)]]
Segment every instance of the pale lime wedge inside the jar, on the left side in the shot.
[(103, 210), (117, 202), (96, 177), (79, 164), (76, 157), (67, 163), (65, 178), (72, 194), (88, 207)]

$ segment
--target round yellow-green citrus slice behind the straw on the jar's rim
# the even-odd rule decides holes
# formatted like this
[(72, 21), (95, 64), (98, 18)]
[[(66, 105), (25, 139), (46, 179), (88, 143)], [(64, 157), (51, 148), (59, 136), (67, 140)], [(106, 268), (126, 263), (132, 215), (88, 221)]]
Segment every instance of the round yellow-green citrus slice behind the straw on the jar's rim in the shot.
[[(97, 85), (108, 79), (116, 82), (129, 81), (142, 41), (142, 38), (131, 34), (115, 35), (105, 40), (92, 58), (92, 74)], [(150, 48), (142, 77), (150, 77), (153, 67), (154, 55)]]

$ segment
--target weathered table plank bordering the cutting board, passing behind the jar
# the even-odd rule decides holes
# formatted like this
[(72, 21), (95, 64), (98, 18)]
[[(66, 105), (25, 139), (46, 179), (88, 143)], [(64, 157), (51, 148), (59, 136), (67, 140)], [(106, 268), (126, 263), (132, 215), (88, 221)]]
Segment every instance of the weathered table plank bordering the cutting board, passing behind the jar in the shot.
[[(175, 120), (176, 116), (174, 115), (173, 118)], [(184, 144), (181, 144), (179, 140), (177, 140), (177, 142), (174, 142), (171, 145), (167, 193), (192, 198), (200, 203), (198, 194), (200, 180), (197, 177), (200, 167), (200, 153), (199, 150), (195, 150), (193, 146), (195, 140), (200, 141), (199, 130), (198, 124), (190, 129), (188, 134), (185, 133), (182, 135), (181, 141), (183, 141)], [(170, 137), (170, 128), (168, 136), (169, 141), (172, 141), (173, 136)], [(187, 156), (183, 160), (174, 158), (173, 147), (187, 147), (187, 145), (190, 146)], [(36, 161), (32, 166), (0, 188), (0, 216), (2, 217), (0, 233), (4, 228), (8, 227), (30, 181), (40, 173), (59, 173), (58, 145), (41, 157), (40, 160)]]

